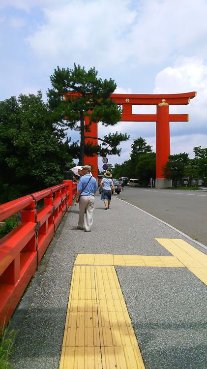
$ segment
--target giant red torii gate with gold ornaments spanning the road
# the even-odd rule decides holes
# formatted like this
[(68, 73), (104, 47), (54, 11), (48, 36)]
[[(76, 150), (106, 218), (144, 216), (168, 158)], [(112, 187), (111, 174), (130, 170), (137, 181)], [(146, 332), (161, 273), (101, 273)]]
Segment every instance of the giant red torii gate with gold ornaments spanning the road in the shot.
[[(170, 114), (169, 105), (187, 105), (190, 99), (196, 96), (196, 92), (173, 94), (122, 94), (112, 93), (111, 99), (122, 105), (122, 122), (156, 122), (156, 188), (164, 188), (171, 185), (165, 179), (162, 168), (170, 155), (170, 122), (188, 122), (188, 114)], [(156, 105), (156, 114), (132, 114), (132, 105)], [(85, 125), (89, 124), (89, 117), (85, 118)], [(91, 123), (90, 132), (85, 132), (85, 137), (98, 136), (97, 123)], [(97, 145), (97, 139), (86, 138), (85, 142)], [(93, 175), (98, 175), (98, 156), (85, 156), (84, 164), (93, 166)]]

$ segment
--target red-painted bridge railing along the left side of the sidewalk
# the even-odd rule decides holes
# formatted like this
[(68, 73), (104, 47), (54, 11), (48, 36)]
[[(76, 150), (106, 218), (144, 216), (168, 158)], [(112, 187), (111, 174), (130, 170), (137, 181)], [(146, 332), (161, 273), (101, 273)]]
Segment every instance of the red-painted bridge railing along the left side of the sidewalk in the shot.
[[(0, 221), (21, 212), (21, 223), (0, 239), (0, 325), (7, 324), (69, 206), (72, 181), (0, 205)], [(44, 205), (37, 210), (37, 202)]]

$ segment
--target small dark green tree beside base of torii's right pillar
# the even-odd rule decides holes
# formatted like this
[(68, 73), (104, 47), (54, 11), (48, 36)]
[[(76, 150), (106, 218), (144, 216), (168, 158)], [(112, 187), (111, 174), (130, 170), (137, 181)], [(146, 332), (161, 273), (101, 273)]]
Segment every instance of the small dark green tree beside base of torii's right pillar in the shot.
[(185, 166), (189, 162), (189, 155), (186, 153), (174, 154), (168, 156), (169, 161), (163, 167), (163, 174), (166, 179), (173, 181), (175, 187), (177, 187), (177, 181), (181, 181), (181, 178), (185, 173)]

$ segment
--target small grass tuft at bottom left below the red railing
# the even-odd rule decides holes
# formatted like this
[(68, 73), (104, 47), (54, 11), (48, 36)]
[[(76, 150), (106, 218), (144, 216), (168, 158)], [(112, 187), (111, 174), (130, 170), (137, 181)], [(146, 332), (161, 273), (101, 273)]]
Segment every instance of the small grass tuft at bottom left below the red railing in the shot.
[(9, 357), (14, 352), (13, 344), (17, 332), (8, 326), (0, 328), (0, 369), (12, 369)]

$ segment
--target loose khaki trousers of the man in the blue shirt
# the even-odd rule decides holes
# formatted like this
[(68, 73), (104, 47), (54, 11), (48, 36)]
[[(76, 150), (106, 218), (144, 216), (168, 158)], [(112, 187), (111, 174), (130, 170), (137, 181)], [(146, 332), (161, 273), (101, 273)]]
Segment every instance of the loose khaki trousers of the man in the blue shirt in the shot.
[[(84, 229), (86, 232), (90, 232), (93, 223), (93, 209), (94, 209), (94, 196), (80, 196), (79, 197), (79, 218), (78, 228)], [(84, 222), (84, 213), (86, 211), (86, 217)]]

